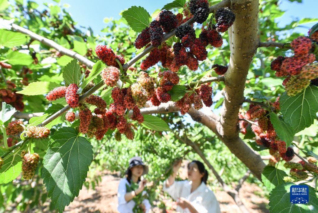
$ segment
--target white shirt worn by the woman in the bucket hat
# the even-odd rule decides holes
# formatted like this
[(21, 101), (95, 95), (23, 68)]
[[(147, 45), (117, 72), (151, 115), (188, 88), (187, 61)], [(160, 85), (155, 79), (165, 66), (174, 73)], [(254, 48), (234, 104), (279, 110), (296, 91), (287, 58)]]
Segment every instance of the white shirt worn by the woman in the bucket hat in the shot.
[[(127, 202), (125, 200), (125, 194), (127, 193), (126, 184), (128, 184), (130, 186), (130, 184), (128, 183), (126, 178), (122, 178), (120, 180), (120, 182), (119, 182), (118, 192), (117, 192), (117, 197), (118, 197), (118, 208), (117, 208), (117, 210), (120, 213), (134, 213), (133, 212), (133, 208), (135, 206), (135, 201), (134, 200), (130, 200), (129, 202)], [(144, 195), (145, 193), (146, 193), (145, 191), (142, 191), (142, 195)], [(149, 200), (148, 199), (144, 199), (142, 201), (142, 203), (146, 207), (146, 213), (149, 212), (149, 210), (150, 210)]]

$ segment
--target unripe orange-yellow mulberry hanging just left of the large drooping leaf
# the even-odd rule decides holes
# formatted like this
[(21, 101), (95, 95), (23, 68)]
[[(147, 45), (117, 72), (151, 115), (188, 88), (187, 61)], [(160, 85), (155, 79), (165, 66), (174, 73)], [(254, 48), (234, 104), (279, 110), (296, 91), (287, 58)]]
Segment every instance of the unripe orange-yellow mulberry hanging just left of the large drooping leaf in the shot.
[(35, 170), (38, 167), (40, 156), (37, 153), (29, 154), (21, 152), (22, 176), (25, 180), (33, 178)]

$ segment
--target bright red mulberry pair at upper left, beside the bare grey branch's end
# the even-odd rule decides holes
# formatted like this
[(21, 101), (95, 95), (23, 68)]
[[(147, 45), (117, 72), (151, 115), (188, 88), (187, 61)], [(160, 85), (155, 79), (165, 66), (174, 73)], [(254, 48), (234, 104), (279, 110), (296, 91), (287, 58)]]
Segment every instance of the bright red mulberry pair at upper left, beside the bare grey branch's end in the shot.
[(107, 48), (106, 45), (97, 45), (95, 48), (95, 53), (100, 60), (102, 60), (107, 66), (114, 66), (119, 68), (119, 64), (115, 59), (117, 59), (121, 65), (125, 63), (125, 59), (116, 55), (111, 48)]

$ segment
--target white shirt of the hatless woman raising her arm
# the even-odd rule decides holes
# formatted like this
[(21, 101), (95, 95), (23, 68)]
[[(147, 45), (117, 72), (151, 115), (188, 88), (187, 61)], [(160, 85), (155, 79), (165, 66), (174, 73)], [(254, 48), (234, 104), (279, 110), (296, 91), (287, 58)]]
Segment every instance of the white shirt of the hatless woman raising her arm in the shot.
[[(191, 205), (200, 213), (221, 213), (219, 203), (214, 193), (202, 182), (200, 186), (191, 193), (192, 181), (175, 181), (169, 188), (166, 181), (163, 182), (163, 190), (168, 192), (174, 199), (184, 197), (190, 201)], [(188, 208), (182, 209), (177, 206), (176, 211), (190, 213)]]

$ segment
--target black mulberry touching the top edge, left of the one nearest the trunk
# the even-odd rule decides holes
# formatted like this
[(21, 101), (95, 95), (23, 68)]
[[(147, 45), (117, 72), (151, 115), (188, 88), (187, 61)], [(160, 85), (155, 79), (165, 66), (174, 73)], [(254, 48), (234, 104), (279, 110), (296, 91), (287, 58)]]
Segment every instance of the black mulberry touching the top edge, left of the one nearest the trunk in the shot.
[(202, 24), (209, 16), (207, 0), (190, 0), (190, 12), (197, 23)]

